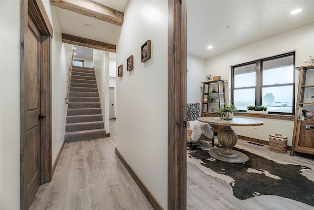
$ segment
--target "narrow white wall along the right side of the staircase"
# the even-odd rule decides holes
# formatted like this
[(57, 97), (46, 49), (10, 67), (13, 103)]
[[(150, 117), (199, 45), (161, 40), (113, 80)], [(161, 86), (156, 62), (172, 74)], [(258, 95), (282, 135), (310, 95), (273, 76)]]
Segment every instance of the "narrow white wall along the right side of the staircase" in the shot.
[(109, 53), (93, 49), (93, 60), (100, 104), (105, 121), (106, 133), (110, 133), (109, 125)]

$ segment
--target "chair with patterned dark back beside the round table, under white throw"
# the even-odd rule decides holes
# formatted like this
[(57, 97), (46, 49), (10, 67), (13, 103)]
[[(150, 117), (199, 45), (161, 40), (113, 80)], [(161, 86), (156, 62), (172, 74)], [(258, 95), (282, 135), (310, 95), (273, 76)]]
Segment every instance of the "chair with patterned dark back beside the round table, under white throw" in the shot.
[[(201, 117), (201, 104), (199, 102), (186, 104), (186, 140), (190, 143), (190, 149), (192, 147), (193, 142), (192, 141), (193, 130), (190, 127), (190, 121), (197, 121), (199, 117)], [(210, 139), (204, 134), (202, 134), (201, 137), (199, 138), (199, 141), (211, 140), (211, 145), (214, 146), (214, 128), (210, 127), (210, 130), (212, 131), (212, 138)]]

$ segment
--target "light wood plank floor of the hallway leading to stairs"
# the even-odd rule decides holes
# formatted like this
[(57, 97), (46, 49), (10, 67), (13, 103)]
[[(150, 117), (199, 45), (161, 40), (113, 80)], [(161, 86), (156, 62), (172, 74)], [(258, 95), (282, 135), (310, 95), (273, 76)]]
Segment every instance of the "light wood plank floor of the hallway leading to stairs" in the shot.
[(39, 187), (30, 210), (153, 210), (115, 155), (110, 137), (66, 143), (50, 183)]

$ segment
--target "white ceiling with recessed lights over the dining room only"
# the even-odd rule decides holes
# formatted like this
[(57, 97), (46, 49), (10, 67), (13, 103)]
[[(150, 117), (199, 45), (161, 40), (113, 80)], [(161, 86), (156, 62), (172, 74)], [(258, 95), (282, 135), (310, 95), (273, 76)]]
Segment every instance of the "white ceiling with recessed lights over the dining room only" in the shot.
[(188, 0), (187, 53), (208, 59), (310, 23), (313, 0)]

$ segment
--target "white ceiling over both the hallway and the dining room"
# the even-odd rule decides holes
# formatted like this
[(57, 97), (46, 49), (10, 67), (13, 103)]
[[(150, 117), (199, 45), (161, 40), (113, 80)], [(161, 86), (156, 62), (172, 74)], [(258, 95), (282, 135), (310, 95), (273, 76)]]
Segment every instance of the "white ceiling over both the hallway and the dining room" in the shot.
[[(129, 2), (93, 1), (121, 12)], [(296, 8), (303, 10), (290, 15)], [(117, 44), (121, 27), (58, 7), (55, 10), (63, 33)], [(313, 11), (314, 0), (187, 0), (187, 54), (208, 59), (297, 29), (314, 23)], [(213, 46), (210, 50), (209, 45)]]

